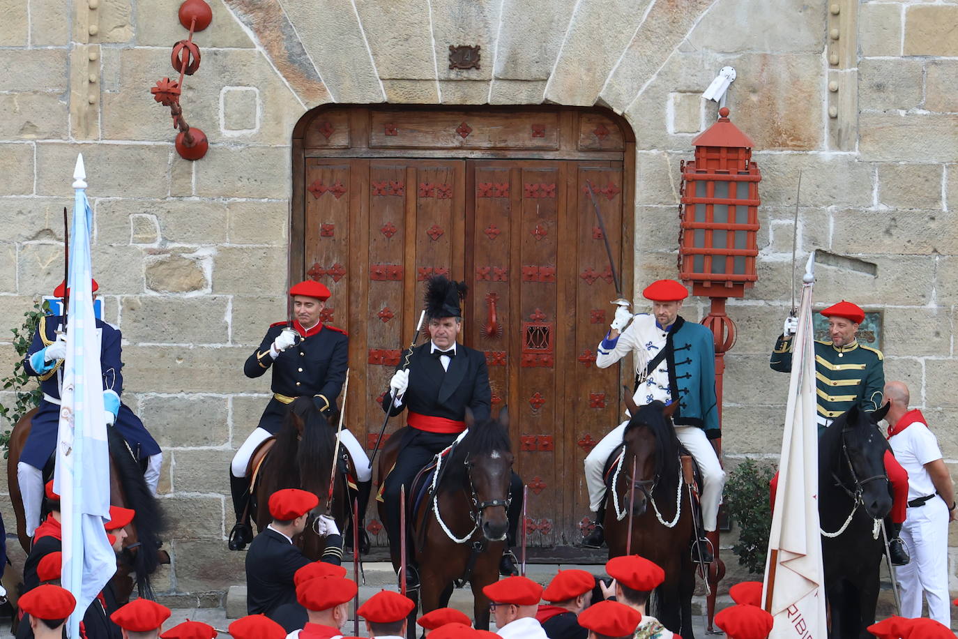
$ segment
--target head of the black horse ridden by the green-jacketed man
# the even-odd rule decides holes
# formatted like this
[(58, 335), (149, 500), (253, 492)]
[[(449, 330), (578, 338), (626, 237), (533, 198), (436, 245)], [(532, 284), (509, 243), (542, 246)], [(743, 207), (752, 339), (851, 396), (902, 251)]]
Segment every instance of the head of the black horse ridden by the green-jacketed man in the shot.
[(878, 422), (884, 419), (888, 407), (885, 404), (870, 413), (852, 406), (828, 428), (838, 429), (841, 437), (834, 477), (846, 491), (858, 496), (865, 512), (874, 519), (884, 517), (892, 508), (884, 465), (889, 446), (878, 430)]

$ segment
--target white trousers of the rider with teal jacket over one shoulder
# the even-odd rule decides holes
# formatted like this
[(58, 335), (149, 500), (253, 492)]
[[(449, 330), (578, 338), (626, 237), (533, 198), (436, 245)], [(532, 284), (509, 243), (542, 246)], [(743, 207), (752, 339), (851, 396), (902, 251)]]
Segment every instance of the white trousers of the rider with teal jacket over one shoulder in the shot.
[[(595, 513), (602, 505), (605, 496), (605, 482), (602, 471), (605, 460), (615, 448), (622, 444), (622, 435), (626, 432), (628, 422), (622, 422), (602, 438), (602, 442), (595, 445), (585, 457), (585, 486), (589, 491), (589, 509)], [(692, 453), (698, 469), (702, 473), (702, 524), (706, 532), (716, 529), (716, 519), (719, 516), (721, 491), (725, 487), (725, 471), (719, 464), (712, 443), (705, 437), (705, 431), (697, 426), (675, 426), (675, 435)]]

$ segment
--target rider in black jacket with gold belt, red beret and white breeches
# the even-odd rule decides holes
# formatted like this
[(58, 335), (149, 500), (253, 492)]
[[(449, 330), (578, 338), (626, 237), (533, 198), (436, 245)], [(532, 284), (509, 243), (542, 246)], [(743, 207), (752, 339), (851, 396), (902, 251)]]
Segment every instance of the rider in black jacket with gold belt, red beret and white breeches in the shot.
[[(262, 411), (260, 424), (239, 446), (230, 464), (230, 490), (237, 523), (230, 533), (230, 550), (242, 550), (253, 538), (253, 531), (243, 513), (249, 499), (246, 467), (257, 447), (275, 435), (283, 425), (289, 404), (299, 397), (312, 398), (313, 403), (328, 418), (336, 411), (336, 398), (346, 381), (349, 337), (346, 331), (324, 324), (322, 320), (330, 289), (319, 282), (307, 280), (289, 289), (292, 297), (292, 322), (270, 325), (260, 347), (243, 366), (246, 377), (261, 377), (272, 369), (270, 389), (273, 397)], [(359, 490), (359, 513), (366, 512), (372, 488), (372, 470), (369, 458), (353, 433), (345, 426), (340, 442), (353, 458)], [(368, 550), (369, 541), (360, 526), (360, 547)], [(351, 537), (352, 538), (352, 537)]]

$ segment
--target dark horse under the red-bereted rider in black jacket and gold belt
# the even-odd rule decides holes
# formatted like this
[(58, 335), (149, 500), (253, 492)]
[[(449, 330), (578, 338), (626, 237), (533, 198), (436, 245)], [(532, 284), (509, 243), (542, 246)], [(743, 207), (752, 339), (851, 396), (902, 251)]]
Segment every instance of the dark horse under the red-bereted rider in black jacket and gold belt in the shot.
[[(272, 521), (266, 504), (274, 492), (301, 489), (319, 497), (319, 505), (313, 509), (306, 530), (295, 539), (303, 555), (313, 560), (322, 557), (326, 546), (326, 536), (316, 533), (315, 517), (329, 514), (339, 530), (345, 532), (352, 513), (346, 475), (342, 470), (336, 472), (332, 501), (327, 504), (335, 444), (336, 431), (313, 404), (312, 398), (294, 399), (289, 404), (283, 427), (276, 434), (275, 444), (264, 451), (264, 456), (253, 455), (250, 464), (254, 468), (259, 465), (259, 470), (247, 474), (254, 477), (254, 499), (250, 508), (260, 532)], [(258, 464), (261, 459), (262, 464)], [(339, 463), (340, 468), (350, 464), (349, 453), (342, 445), (339, 446)]]

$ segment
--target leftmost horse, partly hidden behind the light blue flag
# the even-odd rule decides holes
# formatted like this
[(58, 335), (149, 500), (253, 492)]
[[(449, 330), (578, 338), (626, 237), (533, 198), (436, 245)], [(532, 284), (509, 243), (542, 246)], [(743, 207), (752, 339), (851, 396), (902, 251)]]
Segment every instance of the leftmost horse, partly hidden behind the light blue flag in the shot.
[[(16, 465), (30, 435), (36, 411), (34, 408), (14, 424), (7, 460), (7, 485), (16, 516), (16, 535), (27, 553), (30, 552), (31, 538), (27, 536)], [(126, 527), (123, 551), (117, 557), (117, 572), (110, 581), (117, 603), (123, 605), (129, 601), (134, 585), (140, 597), (153, 598), (149, 577), (161, 563), (170, 563), (170, 555), (160, 549), (159, 535), (164, 530), (165, 522), (156, 499), (143, 479), (143, 468), (123, 436), (113, 428), (107, 428), (107, 445), (110, 453), (110, 504), (135, 511), (133, 521)]]

